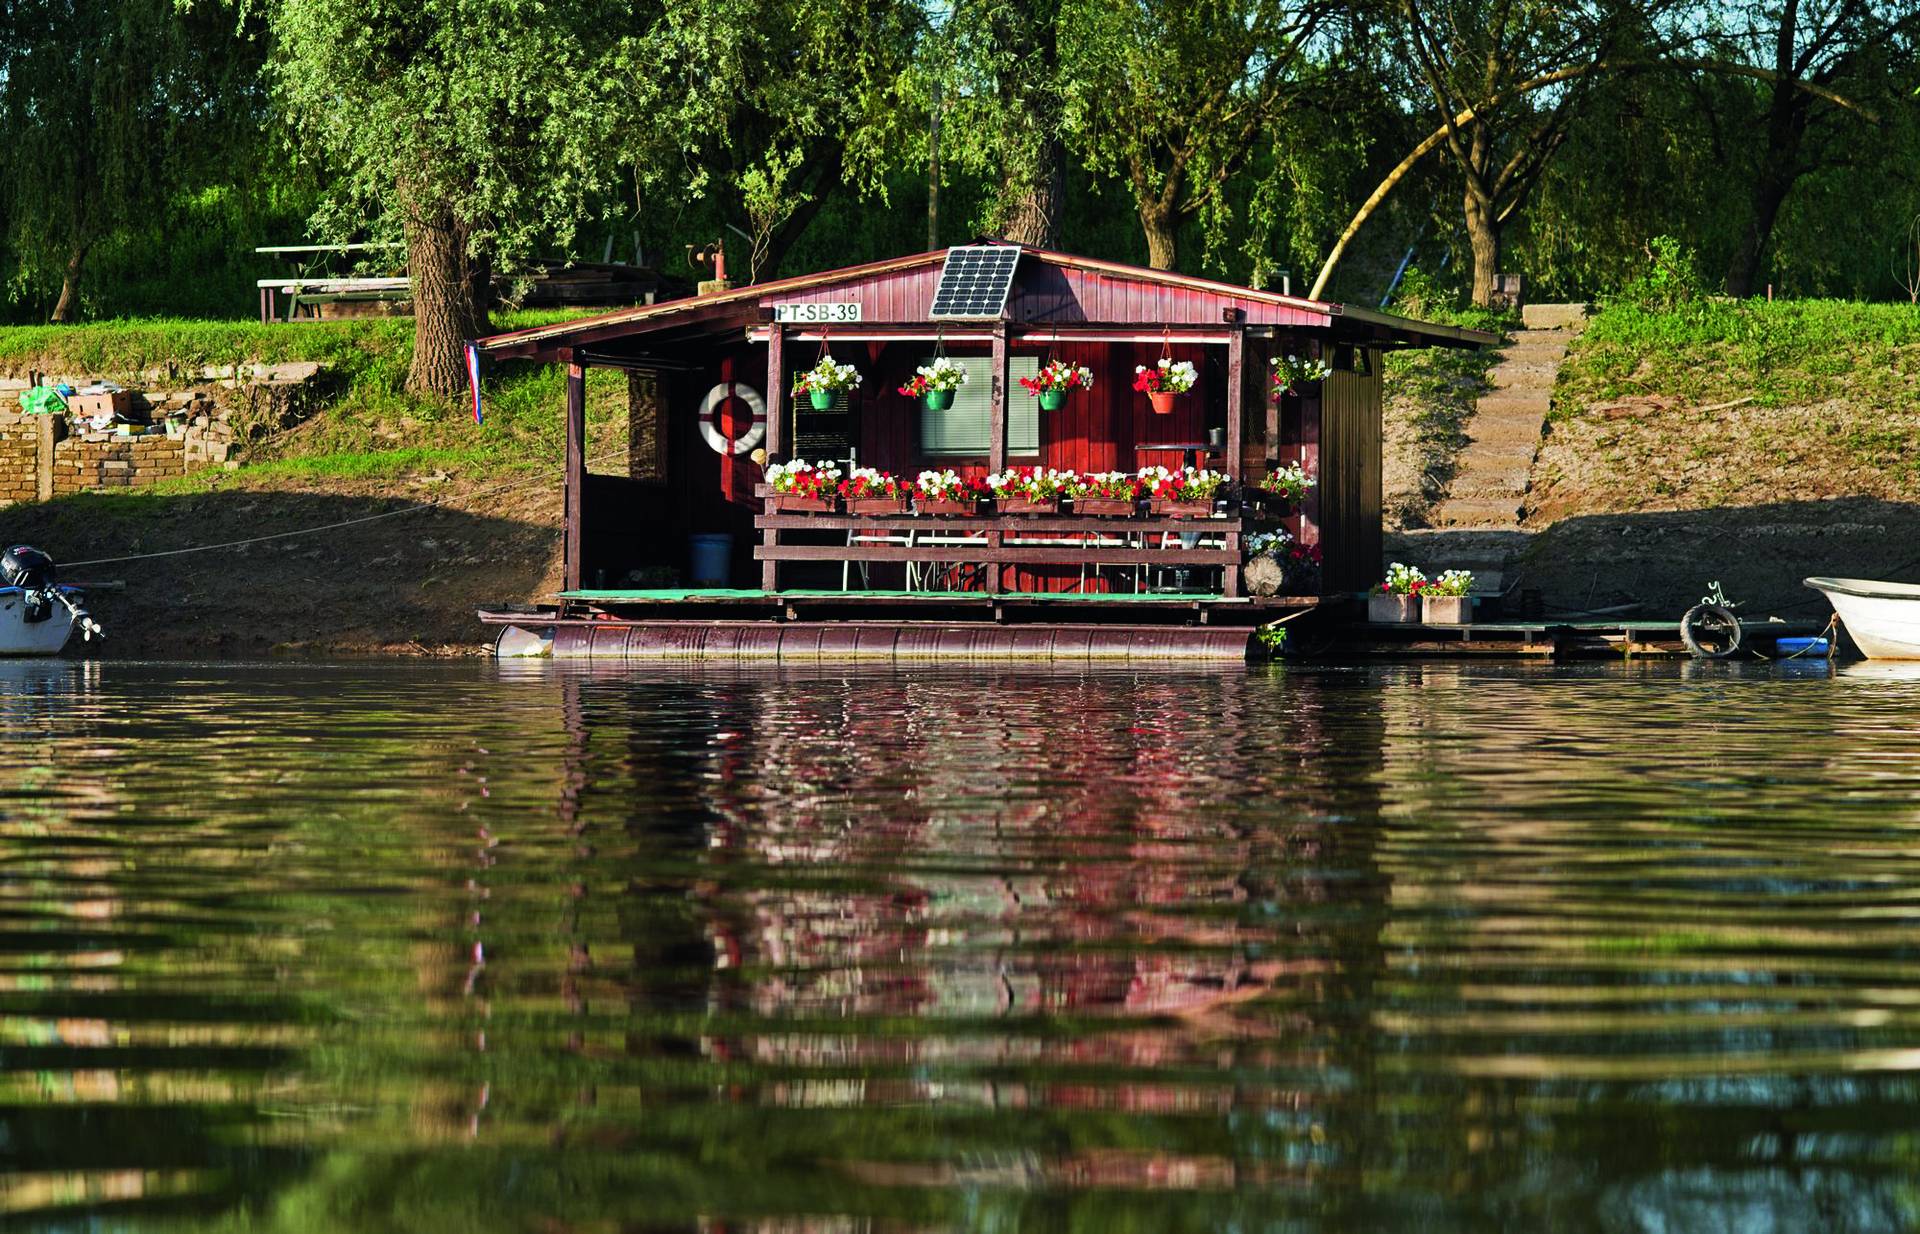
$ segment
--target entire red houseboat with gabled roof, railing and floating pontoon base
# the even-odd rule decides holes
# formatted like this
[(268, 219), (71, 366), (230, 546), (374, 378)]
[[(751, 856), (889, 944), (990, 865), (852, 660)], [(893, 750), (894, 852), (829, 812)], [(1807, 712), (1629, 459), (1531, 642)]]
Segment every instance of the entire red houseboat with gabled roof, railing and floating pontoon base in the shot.
[[(981, 246), (1006, 251), (1012, 246)], [(952, 251), (935, 249), (733, 288), (478, 342), (493, 359), (566, 365), (566, 593), (559, 651), (864, 651), (925, 622), (1010, 626), (1008, 637), (1098, 654), (1142, 629), (1173, 647), (1244, 649), (1275, 610), (1367, 587), (1380, 568), (1380, 355), (1475, 347), (1486, 334), (1165, 271), (1014, 249), (1010, 284), (964, 315), (935, 315)], [(862, 384), (831, 407), (795, 407), (795, 374), (822, 355)], [(970, 380), (950, 409), (897, 393), (945, 353)], [(1269, 397), (1269, 359), (1332, 372)], [(1198, 382), (1156, 415), (1135, 368), (1192, 361)], [(1021, 386), (1048, 359), (1094, 388), (1041, 411)], [(589, 468), (586, 372), (628, 372), (630, 447), (618, 474)], [(804, 403), (804, 399), (801, 399)], [(1298, 463), (1317, 487), (1294, 510), (1219, 505), (1212, 518), (797, 514), (766, 503), (756, 451), (858, 461), (912, 478), (1006, 466), (1079, 472), (1183, 464), (1252, 487)], [(1323, 557), (1298, 595), (1248, 597), (1244, 537), (1286, 530)], [(693, 543), (728, 537), (724, 587), (691, 587)], [(708, 566), (708, 572), (714, 572)], [(689, 626), (689, 618), (699, 618)], [(841, 626), (847, 618), (883, 626)], [(490, 620), (495, 620), (490, 616)], [(509, 618), (497, 618), (509, 620)], [(516, 618), (524, 624), (524, 616)], [(678, 622), (678, 629), (674, 624)], [(979, 628), (962, 631), (985, 649)], [(1219, 628), (1238, 626), (1238, 635)], [(726, 633), (714, 633), (714, 631)], [(751, 629), (751, 635), (732, 633)], [(929, 635), (939, 643), (939, 635)], [(1238, 647), (1233, 639), (1238, 637)], [(937, 651), (931, 643), (918, 649)], [(1125, 649), (1121, 649), (1125, 651)]]

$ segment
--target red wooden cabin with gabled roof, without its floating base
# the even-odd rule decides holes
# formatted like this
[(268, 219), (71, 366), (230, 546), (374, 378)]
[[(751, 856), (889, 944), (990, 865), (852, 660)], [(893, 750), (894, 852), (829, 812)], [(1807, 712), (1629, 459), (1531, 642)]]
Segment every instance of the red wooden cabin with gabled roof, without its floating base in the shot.
[[(1256, 482), (1298, 461), (1319, 487), (1286, 526), (1321, 547), (1323, 593), (1357, 591), (1380, 570), (1380, 353), (1494, 342), (1473, 330), (1041, 249), (1020, 251), (995, 317), (935, 320), (931, 301), (947, 257), (948, 249), (935, 249), (480, 340), (482, 355), (493, 359), (568, 367), (568, 589), (611, 597), (668, 570), (685, 578), (689, 537), (701, 534), (733, 537), (733, 587), (758, 583), (760, 595), (839, 587), (847, 568), (833, 564), (831, 543), (791, 549), (770, 526), (778, 520), (762, 510), (762, 464), (753, 459), (760, 449), (774, 459), (854, 457), (906, 478), (948, 466), (962, 474), (1008, 464), (1091, 472), (1177, 468), (1192, 459)], [(864, 380), (831, 413), (816, 415), (797, 409), (787, 390), (824, 351), (858, 367)], [(948, 413), (895, 390), (935, 351), (970, 368)], [(1273, 399), (1269, 357), (1277, 353), (1323, 357), (1332, 374)], [(1162, 355), (1200, 370), (1171, 415), (1156, 415), (1133, 390), (1135, 367)], [(1087, 365), (1094, 390), (1073, 393), (1062, 411), (1039, 411), (1018, 378), (1048, 357)], [(586, 459), (584, 374), (595, 367), (630, 374), (632, 451), (618, 474), (589, 468)], [(858, 539), (860, 526), (822, 522), (831, 535), (787, 539), (845, 545), (835, 537)], [(893, 526), (881, 520), (872, 530)], [(1077, 534), (1066, 522), (1054, 530)], [(1242, 530), (1252, 528), (1233, 520), (1225, 543), (1238, 547)], [(1023, 543), (1012, 534), (995, 543), (1002, 539)], [(877, 553), (868, 585), (899, 593), (895, 566), (914, 551)], [(1089, 580), (1085, 562), (1066, 560), (1071, 553), (1050, 553), (979, 576), (979, 587), (1021, 595), (1112, 587)], [(1089, 549), (1087, 557), (1098, 555)], [(1236, 568), (1217, 578), (1219, 591), (1235, 595)]]

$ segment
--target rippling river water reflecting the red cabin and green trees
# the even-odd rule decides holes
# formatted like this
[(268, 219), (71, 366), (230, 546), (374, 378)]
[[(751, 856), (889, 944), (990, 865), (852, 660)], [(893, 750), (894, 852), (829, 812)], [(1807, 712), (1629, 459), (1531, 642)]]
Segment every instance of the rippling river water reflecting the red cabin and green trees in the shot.
[(0, 714), (0, 1222), (1920, 1221), (1899, 668), (69, 662)]

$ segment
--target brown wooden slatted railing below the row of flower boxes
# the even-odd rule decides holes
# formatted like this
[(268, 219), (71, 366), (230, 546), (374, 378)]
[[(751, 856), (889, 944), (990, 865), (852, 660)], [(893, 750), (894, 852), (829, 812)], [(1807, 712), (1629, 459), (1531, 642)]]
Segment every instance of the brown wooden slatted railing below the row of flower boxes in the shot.
[[(1162, 566), (1219, 568), (1221, 595), (1240, 593), (1240, 535), (1244, 520), (1225, 518), (1092, 518), (1071, 514), (760, 514), (755, 560), (760, 587), (780, 591), (781, 562), (908, 562), (966, 564), (981, 585), (973, 591), (1012, 591), (1018, 566)], [(783, 543), (789, 532), (833, 532), (839, 545)], [(1187, 547), (1181, 535), (1200, 535), (1217, 547)], [(1075, 543), (1077, 541), (1077, 543)]]

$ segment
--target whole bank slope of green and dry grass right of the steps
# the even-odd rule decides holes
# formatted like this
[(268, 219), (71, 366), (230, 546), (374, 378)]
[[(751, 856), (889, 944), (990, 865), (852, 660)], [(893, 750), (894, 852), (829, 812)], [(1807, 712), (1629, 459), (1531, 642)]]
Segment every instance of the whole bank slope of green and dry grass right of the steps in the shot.
[(1561, 368), (1528, 522), (1920, 501), (1920, 309), (1609, 305)]

